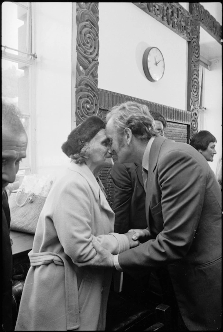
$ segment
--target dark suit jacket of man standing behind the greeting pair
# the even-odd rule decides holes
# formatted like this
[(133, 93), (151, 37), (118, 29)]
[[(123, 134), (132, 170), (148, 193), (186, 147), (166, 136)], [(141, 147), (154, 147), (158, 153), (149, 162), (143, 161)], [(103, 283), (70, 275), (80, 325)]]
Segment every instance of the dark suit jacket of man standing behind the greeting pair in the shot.
[(142, 166), (116, 161), (111, 177), (114, 183), (114, 231), (126, 233), (131, 228), (147, 228)]

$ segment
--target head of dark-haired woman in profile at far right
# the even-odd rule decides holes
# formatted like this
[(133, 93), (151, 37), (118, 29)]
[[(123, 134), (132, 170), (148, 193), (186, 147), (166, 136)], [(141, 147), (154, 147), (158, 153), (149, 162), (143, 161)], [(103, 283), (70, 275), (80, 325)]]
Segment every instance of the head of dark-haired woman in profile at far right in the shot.
[(217, 153), (215, 145), (216, 138), (207, 130), (201, 130), (194, 134), (191, 138), (190, 145), (199, 151), (207, 161), (213, 161), (214, 155)]

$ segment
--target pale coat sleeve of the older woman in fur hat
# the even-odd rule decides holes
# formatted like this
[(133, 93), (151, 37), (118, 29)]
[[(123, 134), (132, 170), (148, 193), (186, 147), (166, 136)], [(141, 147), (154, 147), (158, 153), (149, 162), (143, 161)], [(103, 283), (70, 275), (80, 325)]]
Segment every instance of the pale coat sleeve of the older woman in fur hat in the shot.
[[(86, 262), (96, 255), (92, 246), (93, 237), (113, 254), (129, 249), (129, 240), (124, 234), (92, 235), (92, 192), (87, 181), (78, 177), (66, 183), (58, 196), (53, 214), (57, 237), (66, 255), (72, 261)], [(97, 222), (97, 221), (94, 221)]]

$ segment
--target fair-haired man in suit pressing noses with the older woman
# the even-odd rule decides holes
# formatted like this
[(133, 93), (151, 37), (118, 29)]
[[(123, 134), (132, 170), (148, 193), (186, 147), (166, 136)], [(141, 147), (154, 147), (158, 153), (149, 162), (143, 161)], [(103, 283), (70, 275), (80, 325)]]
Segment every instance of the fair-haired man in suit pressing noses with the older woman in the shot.
[(157, 135), (145, 105), (123, 103), (106, 120), (119, 162), (143, 166), (148, 228), (133, 235), (142, 244), (119, 255), (94, 242), (97, 255), (85, 264), (129, 274), (167, 266), (186, 328), (220, 330), (221, 190), (214, 173), (192, 146)]

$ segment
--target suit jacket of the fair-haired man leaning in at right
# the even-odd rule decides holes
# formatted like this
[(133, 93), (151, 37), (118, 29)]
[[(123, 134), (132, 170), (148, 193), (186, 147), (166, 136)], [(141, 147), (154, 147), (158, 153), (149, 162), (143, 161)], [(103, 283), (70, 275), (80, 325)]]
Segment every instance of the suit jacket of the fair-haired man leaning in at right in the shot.
[(123, 271), (167, 265), (189, 330), (221, 327), (221, 190), (192, 146), (157, 136), (149, 155), (146, 216), (152, 238), (119, 254)]

